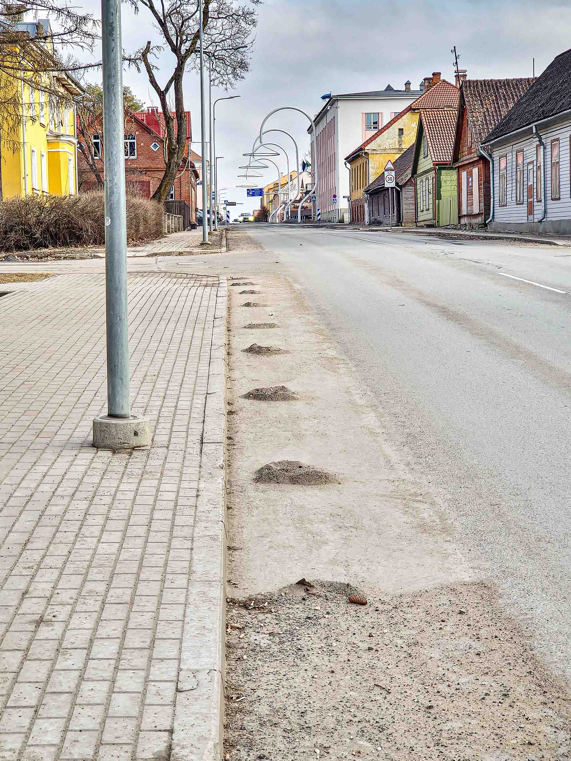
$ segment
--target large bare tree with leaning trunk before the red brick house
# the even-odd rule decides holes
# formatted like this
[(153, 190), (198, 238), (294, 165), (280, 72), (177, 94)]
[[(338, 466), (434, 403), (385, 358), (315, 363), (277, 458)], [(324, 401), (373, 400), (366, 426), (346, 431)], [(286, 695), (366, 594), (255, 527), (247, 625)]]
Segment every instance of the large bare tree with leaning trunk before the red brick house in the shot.
[[(164, 202), (177, 176), (187, 149), (187, 116), (184, 108), (183, 76), (196, 68), (199, 53), (198, 0), (131, 0), (136, 10), (145, 9), (155, 21), (163, 40), (148, 43), (130, 59), (142, 65), (161, 103), (164, 118), (165, 170), (153, 198)], [(260, 0), (250, 0), (256, 6)], [(244, 78), (250, 66), (250, 36), (257, 25), (254, 7), (236, 5), (234, 0), (203, 0), (203, 45), (211, 54), (212, 80), (229, 87)], [(245, 46), (245, 47), (244, 47)], [(164, 84), (158, 81), (155, 63), (164, 50), (174, 57), (171, 75)], [(170, 101), (174, 100), (174, 112)]]

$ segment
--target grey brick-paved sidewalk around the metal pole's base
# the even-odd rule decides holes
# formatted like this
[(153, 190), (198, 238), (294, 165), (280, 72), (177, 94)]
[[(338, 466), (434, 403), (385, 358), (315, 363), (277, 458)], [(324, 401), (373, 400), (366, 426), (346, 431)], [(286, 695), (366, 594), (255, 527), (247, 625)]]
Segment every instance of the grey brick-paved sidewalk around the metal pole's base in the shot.
[(0, 759), (169, 758), (223, 304), (218, 278), (129, 275), (132, 409), (155, 436), (111, 453), (91, 447), (104, 275), (0, 298)]

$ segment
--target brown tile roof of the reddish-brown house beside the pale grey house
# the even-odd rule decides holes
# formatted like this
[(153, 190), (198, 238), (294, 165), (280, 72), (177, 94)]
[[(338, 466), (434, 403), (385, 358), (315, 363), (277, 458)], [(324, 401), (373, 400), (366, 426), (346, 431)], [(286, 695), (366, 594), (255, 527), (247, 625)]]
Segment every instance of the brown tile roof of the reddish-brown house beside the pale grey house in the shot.
[(532, 77), (524, 77), (467, 79), (462, 83), (461, 94), (477, 145), (483, 142), (534, 81)]

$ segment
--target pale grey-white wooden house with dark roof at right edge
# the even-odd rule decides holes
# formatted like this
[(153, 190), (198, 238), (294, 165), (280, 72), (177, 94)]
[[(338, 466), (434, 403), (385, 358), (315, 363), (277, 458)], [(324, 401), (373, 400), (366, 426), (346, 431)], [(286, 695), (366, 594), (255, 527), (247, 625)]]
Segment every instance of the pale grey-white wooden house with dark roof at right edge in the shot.
[(490, 230), (570, 234), (571, 49), (483, 142), (493, 159)]

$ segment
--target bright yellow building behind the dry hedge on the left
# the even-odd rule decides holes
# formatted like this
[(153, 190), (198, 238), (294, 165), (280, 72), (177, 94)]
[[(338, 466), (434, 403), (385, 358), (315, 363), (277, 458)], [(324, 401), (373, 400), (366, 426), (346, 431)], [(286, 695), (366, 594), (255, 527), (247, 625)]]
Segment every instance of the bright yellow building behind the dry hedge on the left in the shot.
[[(8, 94), (11, 90), (11, 107), (19, 117), (0, 117), (2, 198), (73, 195), (78, 190), (73, 99), (84, 89), (71, 75), (56, 72), (55, 64), (50, 70), (49, 21), (20, 22), (17, 32), (28, 62), (14, 78), (6, 74), (8, 67), (2, 71), (2, 86)], [(45, 35), (48, 40), (42, 40)], [(7, 47), (14, 59), (18, 37), (13, 32)]]

